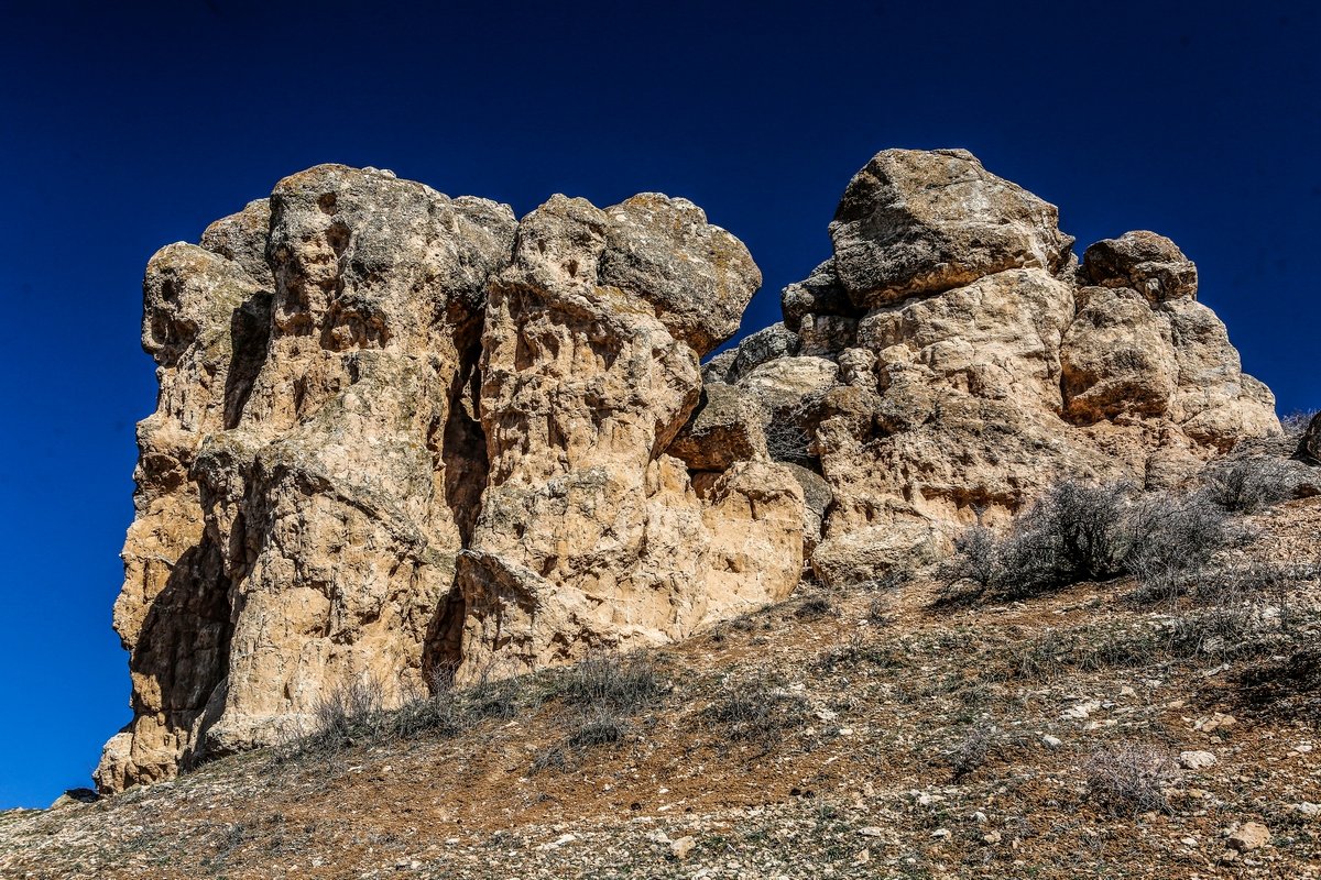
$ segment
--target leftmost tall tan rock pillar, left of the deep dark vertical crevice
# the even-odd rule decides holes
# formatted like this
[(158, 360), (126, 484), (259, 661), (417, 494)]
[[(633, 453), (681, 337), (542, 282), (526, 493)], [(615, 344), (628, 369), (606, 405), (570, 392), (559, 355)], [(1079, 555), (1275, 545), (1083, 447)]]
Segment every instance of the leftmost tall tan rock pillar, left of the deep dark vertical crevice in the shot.
[(345, 166), (268, 204), (269, 243), (255, 202), (207, 230), (214, 253), (170, 245), (148, 268), (161, 397), (115, 615), (135, 720), (104, 790), (272, 741), (354, 678), (398, 699), (443, 643), (485, 470), (485, 288), (514, 218)]

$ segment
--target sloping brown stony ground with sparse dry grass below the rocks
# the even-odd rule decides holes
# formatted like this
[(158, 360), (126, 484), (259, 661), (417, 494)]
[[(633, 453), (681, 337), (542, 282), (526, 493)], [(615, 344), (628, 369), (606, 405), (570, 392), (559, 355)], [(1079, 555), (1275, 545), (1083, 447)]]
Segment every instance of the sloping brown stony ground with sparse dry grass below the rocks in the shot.
[[(1299, 574), (1232, 607), (808, 581), (638, 654), (609, 706), (547, 670), (449, 728), (5, 813), (0, 876), (1317, 877), (1321, 499), (1246, 524), (1227, 565)], [(1172, 635), (1227, 612), (1234, 644)]]

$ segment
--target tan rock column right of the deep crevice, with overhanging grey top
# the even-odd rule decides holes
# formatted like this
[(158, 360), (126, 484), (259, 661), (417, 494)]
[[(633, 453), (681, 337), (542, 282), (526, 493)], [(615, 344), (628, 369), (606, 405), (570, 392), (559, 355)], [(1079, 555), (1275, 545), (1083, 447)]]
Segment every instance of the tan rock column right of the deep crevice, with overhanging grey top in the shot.
[[(736, 464), (733, 450), (700, 460), (690, 435), (679, 453), (728, 466), (695, 487), (664, 453), (697, 405), (697, 356), (733, 331), (723, 315), (741, 313), (760, 276), (729, 273), (750, 259), (688, 203), (646, 197), (646, 216), (686, 220), (645, 230), (637, 201), (625, 206), (552, 198), (522, 220), (513, 265), (490, 288), (490, 472), (460, 563), (461, 678), (498, 660), (534, 669), (682, 637), (797, 582), (802, 491), (790, 474)], [(692, 280), (711, 277), (724, 281), (699, 309)], [(760, 455), (748, 446), (738, 454)]]

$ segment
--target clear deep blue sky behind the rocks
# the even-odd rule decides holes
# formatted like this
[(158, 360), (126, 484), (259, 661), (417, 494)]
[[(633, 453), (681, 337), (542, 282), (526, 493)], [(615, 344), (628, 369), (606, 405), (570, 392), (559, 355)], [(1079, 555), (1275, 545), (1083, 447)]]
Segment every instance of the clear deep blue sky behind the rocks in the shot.
[(966, 146), (1081, 245), (1173, 237), (1281, 410), (1321, 406), (1310, 4), (412, 5), (0, 0), (0, 807), (86, 785), (129, 718), (143, 267), (317, 162), (519, 214), (688, 197), (765, 273), (754, 330), (875, 152)]

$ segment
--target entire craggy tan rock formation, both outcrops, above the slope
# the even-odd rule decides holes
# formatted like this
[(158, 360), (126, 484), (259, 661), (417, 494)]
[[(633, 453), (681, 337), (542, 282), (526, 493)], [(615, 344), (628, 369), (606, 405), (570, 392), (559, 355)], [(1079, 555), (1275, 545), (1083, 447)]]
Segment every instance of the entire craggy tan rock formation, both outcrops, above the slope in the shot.
[(733, 350), (761, 276), (695, 204), (449, 198), (324, 165), (152, 257), (114, 792), (395, 702), (934, 558), (1066, 475), (1184, 479), (1279, 430), (1197, 272), (1083, 260), (963, 150), (886, 150), (834, 256)]

